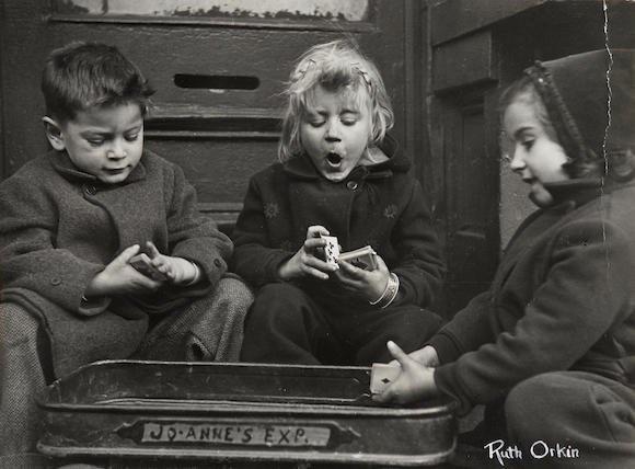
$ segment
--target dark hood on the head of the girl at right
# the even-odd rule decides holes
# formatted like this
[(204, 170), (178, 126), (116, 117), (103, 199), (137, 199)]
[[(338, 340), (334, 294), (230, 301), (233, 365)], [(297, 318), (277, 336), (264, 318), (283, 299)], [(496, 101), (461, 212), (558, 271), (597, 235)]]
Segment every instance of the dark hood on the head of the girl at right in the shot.
[[(574, 168), (600, 159), (609, 162), (609, 172), (616, 179), (632, 176), (634, 49), (601, 49), (536, 61), (526, 73), (538, 89)], [(574, 178), (578, 176), (573, 172)]]

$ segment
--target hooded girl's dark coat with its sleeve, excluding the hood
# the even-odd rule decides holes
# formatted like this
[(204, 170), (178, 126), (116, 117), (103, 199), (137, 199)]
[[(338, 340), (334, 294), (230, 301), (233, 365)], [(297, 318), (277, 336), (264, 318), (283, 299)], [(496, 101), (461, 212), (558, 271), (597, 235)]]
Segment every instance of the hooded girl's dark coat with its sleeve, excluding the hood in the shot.
[(435, 380), (463, 410), (546, 371), (635, 385), (635, 183), (564, 186), (519, 228), (490, 289), (430, 341)]

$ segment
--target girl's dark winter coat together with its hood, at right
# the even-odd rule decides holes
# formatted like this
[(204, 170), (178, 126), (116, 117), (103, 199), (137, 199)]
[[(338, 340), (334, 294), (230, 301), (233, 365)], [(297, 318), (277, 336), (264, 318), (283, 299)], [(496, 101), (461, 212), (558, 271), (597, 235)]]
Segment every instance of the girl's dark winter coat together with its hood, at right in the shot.
[[(577, 54), (526, 70), (573, 178), (545, 184), (492, 288), (430, 343), (438, 387), (463, 410), (546, 371), (635, 386), (635, 50)], [(590, 175), (586, 171), (591, 168)]]

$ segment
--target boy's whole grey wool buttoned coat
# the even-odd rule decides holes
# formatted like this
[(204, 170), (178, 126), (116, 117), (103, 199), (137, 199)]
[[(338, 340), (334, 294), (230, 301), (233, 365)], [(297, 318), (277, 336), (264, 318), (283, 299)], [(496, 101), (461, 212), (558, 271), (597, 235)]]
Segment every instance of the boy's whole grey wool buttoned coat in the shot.
[[(82, 301), (91, 279), (124, 249), (153, 241), (196, 262), (205, 282), (148, 296)], [(196, 193), (175, 164), (145, 151), (122, 184), (103, 184), (51, 151), (0, 184), (0, 285), (36, 295), (46, 331), (73, 353), (134, 352), (159, 317), (210, 294), (227, 270), (229, 238), (199, 215)], [(107, 352), (106, 352), (107, 355)]]

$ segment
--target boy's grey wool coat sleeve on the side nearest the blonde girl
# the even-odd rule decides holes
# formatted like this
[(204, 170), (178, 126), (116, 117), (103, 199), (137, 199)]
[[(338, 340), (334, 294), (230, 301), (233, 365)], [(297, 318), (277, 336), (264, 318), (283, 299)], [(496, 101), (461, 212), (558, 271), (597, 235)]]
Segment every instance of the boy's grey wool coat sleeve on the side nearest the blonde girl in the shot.
[(216, 286), (227, 271), (233, 245), (216, 222), (198, 211), (196, 191), (183, 170), (173, 167), (172, 197), (168, 210), (168, 243), (171, 255), (196, 262), (209, 284)]

